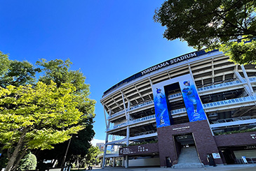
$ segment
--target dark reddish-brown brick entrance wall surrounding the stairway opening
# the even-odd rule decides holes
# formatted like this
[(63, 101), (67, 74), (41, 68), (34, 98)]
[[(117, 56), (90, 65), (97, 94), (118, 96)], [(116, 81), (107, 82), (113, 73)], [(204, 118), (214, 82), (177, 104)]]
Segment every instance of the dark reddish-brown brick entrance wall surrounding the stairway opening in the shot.
[[(159, 157), (161, 167), (166, 166), (166, 157), (170, 157), (173, 164), (177, 163), (177, 155), (173, 135), (192, 133), (201, 162), (208, 165), (207, 154), (218, 153), (215, 139), (210, 131), (208, 122), (194, 121), (157, 129), (159, 137)], [(222, 159), (215, 159), (216, 164), (222, 164)]]

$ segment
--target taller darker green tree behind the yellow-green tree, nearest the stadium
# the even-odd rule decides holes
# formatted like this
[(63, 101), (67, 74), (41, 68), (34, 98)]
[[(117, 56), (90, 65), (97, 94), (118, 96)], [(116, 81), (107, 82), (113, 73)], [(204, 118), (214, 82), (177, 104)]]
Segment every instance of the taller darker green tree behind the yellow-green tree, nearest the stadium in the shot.
[[(95, 101), (89, 98), (90, 85), (85, 83), (86, 77), (80, 70), (70, 70), (72, 62), (69, 61), (69, 59), (66, 61), (62, 61), (61, 59), (51, 61), (41, 59), (41, 61), (37, 61), (36, 64), (40, 66), (42, 70), (42, 75), (39, 78), (41, 82), (49, 84), (50, 80), (53, 80), (56, 82), (57, 87), (63, 83), (69, 83), (76, 87), (74, 94), (77, 98), (75, 101), (77, 102), (79, 111), (83, 112), (83, 117), (78, 124), (85, 126), (85, 128), (79, 131), (77, 136), (72, 137), (66, 161), (72, 163), (76, 160), (77, 156), (84, 158), (90, 148), (90, 141), (95, 135), (93, 131)], [(36, 156), (39, 161), (43, 161), (43, 159), (62, 161), (65, 155), (64, 149), (67, 148), (67, 142), (55, 144), (54, 147), (54, 149), (38, 151)], [(58, 162), (58, 166), (60, 166), (60, 164), (61, 162)]]

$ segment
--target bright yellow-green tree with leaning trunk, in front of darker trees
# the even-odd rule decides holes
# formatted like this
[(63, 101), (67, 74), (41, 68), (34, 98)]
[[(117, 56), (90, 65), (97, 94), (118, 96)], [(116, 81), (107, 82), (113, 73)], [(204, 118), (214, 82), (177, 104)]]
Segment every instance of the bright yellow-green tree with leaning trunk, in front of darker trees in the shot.
[(52, 149), (84, 126), (76, 88), (50, 82), (0, 88), (0, 142), (8, 149), (6, 170), (16, 170), (28, 149)]

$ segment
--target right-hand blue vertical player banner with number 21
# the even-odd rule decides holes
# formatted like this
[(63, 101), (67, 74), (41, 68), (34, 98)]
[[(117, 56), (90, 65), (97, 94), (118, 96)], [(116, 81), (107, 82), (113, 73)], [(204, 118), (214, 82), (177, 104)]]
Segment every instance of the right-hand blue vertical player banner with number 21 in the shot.
[(206, 120), (206, 113), (203, 110), (203, 105), (200, 101), (191, 75), (183, 75), (180, 78), (180, 89), (182, 91), (182, 97), (186, 106), (189, 121)]

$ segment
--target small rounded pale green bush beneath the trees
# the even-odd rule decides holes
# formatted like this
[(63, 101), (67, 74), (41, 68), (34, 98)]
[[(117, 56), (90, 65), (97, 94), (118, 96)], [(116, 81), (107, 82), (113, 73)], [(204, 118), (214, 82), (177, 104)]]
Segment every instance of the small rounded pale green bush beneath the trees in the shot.
[(36, 156), (29, 152), (20, 161), (19, 170), (36, 170)]

